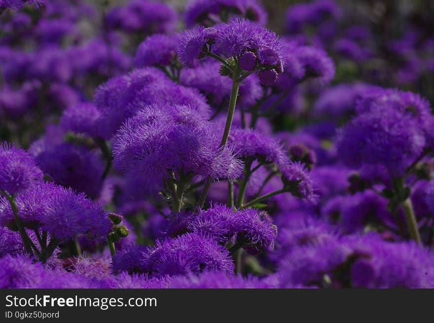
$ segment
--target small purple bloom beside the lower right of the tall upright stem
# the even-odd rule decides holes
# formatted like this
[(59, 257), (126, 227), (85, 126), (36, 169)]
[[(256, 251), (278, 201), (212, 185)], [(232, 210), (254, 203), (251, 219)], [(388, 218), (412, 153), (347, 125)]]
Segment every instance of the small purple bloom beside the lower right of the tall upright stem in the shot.
[(228, 143), (244, 158), (253, 157), (276, 165), (289, 162), (287, 152), (278, 140), (253, 129), (232, 129)]

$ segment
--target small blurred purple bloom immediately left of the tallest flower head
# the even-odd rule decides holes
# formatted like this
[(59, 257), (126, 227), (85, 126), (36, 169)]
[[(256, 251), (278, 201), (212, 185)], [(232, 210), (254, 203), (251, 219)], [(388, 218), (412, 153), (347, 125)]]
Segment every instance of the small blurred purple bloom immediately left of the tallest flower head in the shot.
[(169, 65), (176, 57), (179, 36), (155, 34), (146, 37), (137, 49), (135, 66)]

